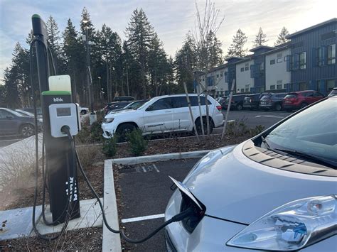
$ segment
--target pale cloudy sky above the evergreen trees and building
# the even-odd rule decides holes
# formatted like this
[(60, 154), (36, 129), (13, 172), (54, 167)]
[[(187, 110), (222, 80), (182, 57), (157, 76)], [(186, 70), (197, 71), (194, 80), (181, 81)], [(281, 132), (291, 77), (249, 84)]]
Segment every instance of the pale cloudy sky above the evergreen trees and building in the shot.
[[(225, 17), (217, 37), (224, 55), (237, 29), (247, 36), (252, 48), (260, 27), (267, 34), (267, 45), (274, 45), (285, 26), (289, 33), (300, 31), (337, 16), (336, 0), (213, 0), (220, 17)], [(62, 32), (68, 18), (77, 30), (85, 6), (95, 28), (105, 23), (122, 39), (134, 9), (142, 8), (164, 43), (166, 53), (174, 56), (186, 33), (194, 29), (196, 3), (202, 10), (205, 0), (0, 0), (0, 84), (3, 72), (11, 64), (16, 42), (28, 47), (25, 40), (31, 31), (31, 16), (37, 13), (45, 21), (53, 16)]]

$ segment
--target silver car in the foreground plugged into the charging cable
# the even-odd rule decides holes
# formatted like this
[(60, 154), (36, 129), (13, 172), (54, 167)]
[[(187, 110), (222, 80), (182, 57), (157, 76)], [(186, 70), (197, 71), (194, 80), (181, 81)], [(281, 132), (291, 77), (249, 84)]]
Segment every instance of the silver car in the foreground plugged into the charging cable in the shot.
[(168, 251), (337, 251), (337, 97), (213, 150), (166, 207)]

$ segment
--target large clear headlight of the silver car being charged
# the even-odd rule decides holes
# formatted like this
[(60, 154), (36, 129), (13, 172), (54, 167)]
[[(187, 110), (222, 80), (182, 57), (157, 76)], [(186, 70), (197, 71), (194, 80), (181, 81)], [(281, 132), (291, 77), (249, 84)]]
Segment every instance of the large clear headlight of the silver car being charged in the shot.
[(228, 246), (294, 251), (337, 234), (337, 195), (299, 199), (274, 209), (235, 235)]

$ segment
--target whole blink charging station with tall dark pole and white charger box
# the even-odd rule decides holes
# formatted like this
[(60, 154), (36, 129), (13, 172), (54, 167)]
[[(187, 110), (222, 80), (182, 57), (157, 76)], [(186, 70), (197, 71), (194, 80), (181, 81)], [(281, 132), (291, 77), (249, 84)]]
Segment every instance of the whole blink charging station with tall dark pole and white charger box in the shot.
[(46, 185), (52, 224), (56, 225), (80, 217), (75, 144), (67, 134), (68, 131), (71, 136), (78, 133), (80, 116), (78, 106), (72, 101), (70, 77), (49, 76), (46, 24), (38, 15), (32, 16), (32, 24), (46, 146)]

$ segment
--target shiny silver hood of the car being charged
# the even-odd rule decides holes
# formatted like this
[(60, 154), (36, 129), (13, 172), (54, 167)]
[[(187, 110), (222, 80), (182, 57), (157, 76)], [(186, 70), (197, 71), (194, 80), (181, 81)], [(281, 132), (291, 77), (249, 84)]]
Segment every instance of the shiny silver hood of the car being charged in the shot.
[(205, 205), (206, 214), (250, 224), (295, 199), (336, 194), (337, 177), (290, 172), (256, 163), (242, 153), (243, 144), (184, 180)]

